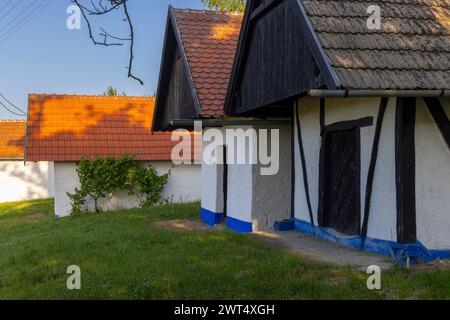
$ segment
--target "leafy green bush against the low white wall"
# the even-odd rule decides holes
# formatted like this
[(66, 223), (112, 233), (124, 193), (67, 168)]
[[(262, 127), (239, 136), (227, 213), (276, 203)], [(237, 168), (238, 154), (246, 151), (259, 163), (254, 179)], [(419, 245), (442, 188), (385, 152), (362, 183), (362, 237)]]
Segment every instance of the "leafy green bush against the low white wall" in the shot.
[(141, 197), (141, 206), (149, 207), (159, 203), (161, 193), (169, 179), (170, 172), (159, 176), (152, 166), (143, 167), (134, 156), (120, 158), (81, 159), (77, 166), (80, 188), (67, 193), (72, 204), (72, 213), (80, 213), (88, 198), (95, 204), (95, 211), (101, 212), (98, 200), (108, 194), (125, 190), (130, 196)]

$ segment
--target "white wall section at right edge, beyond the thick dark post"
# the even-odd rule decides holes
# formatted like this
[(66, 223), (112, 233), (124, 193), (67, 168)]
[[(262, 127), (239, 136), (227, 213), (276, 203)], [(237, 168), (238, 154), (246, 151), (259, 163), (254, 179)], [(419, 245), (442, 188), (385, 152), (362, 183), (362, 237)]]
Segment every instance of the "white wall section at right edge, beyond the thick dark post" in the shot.
[[(450, 101), (442, 99), (450, 116)], [(422, 99), (416, 118), (417, 238), (427, 248), (450, 248), (450, 150)]]

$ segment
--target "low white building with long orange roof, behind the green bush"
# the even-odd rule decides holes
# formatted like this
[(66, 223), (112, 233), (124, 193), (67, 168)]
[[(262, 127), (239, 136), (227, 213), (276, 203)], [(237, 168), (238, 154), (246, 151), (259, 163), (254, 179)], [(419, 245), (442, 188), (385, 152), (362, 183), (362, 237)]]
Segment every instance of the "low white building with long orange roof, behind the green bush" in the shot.
[[(159, 174), (171, 170), (162, 197), (170, 202), (200, 199), (200, 166), (172, 162), (170, 133), (151, 132), (154, 98), (80, 95), (30, 95), (26, 162), (53, 162), (55, 217), (71, 213), (67, 193), (79, 187), (77, 162), (96, 158), (134, 155)], [(108, 195), (99, 201), (102, 210), (139, 206), (127, 192)], [(93, 211), (93, 203), (88, 207)]]

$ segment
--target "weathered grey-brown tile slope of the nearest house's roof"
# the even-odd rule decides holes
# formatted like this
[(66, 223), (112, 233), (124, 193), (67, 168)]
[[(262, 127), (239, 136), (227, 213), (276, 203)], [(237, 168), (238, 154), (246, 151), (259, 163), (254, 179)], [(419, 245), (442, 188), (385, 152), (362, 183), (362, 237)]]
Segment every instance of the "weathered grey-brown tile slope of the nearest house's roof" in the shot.
[[(302, 0), (346, 89), (449, 89), (449, 0)], [(367, 8), (381, 8), (369, 30)]]

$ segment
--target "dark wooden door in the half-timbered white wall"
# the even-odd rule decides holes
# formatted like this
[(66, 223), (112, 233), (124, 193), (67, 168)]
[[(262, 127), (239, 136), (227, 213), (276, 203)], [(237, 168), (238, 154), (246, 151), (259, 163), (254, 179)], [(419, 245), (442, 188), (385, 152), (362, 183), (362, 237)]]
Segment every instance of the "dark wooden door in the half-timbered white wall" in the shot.
[(321, 225), (347, 235), (359, 235), (360, 131), (326, 133), (322, 151), (323, 206)]

